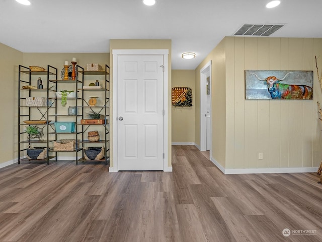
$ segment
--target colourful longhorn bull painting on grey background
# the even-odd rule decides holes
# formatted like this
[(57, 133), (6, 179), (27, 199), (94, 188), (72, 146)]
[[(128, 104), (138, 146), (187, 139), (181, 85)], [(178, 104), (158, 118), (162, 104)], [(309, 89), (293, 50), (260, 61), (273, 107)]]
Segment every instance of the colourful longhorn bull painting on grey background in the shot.
[(313, 99), (313, 71), (245, 71), (246, 99)]

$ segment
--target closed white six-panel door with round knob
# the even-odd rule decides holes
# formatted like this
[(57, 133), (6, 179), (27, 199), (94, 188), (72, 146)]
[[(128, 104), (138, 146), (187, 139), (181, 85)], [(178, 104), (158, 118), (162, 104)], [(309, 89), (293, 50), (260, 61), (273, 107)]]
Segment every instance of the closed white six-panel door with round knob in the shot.
[(118, 56), (118, 170), (164, 169), (163, 59)]

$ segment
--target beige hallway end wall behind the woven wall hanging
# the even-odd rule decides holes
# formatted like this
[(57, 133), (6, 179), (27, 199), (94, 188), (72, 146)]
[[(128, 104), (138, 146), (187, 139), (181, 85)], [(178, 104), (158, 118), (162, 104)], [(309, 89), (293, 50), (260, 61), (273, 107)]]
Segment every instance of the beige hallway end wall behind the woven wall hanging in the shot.
[(172, 87), (192, 88), (192, 107), (172, 106), (172, 142), (195, 142), (195, 71), (172, 70)]

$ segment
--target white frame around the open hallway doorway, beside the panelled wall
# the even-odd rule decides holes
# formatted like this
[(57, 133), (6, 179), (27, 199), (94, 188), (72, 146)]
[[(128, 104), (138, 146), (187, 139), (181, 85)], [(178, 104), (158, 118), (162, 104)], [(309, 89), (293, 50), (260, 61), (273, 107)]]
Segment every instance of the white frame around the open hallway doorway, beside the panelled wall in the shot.
[(211, 144), (212, 144), (212, 135), (211, 135), (211, 124), (212, 124), (212, 111), (211, 111), (211, 102), (212, 102), (212, 93), (211, 93), (211, 61), (209, 61), (201, 70), (200, 70), (200, 150), (206, 151), (207, 144), (207, 73), (209, 73), (209, 85), (210, 85), (210, 156), (211, 156)]

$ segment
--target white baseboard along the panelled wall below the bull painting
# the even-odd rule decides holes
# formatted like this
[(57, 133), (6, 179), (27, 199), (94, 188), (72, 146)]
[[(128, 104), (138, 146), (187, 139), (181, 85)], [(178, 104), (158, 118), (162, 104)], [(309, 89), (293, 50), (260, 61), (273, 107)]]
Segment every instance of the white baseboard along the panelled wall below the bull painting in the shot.
[(307, 173), (307, 172), (316, 172), (318, 169), (318, 167), (225, 169), (214, 158), (211, 158), (211, 161), (224, 174)]

